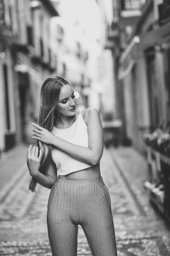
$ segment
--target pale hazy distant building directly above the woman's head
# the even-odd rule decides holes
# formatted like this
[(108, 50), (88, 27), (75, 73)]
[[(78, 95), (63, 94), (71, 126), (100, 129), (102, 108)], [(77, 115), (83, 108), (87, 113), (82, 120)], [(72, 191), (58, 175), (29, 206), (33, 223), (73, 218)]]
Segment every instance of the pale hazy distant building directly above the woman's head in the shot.
[(86, 72), (88, 52), (76, 36), (76, 24), (68, 25), (60, 16), (52, 20), (51, 26), (53, 47), (57, 46), (57, 73), (66, 77), (79, 93), (78, 104), (87, 106), (88, 102), (83, 98), (83, 90), (90, 86)]

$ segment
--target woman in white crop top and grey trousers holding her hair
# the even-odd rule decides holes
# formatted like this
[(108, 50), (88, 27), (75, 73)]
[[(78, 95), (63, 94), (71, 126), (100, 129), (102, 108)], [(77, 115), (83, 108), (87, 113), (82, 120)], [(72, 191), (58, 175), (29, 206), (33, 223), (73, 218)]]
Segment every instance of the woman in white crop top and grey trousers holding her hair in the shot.
[(32, 125), (39, 147), (29, 146), (27, 152), (29, 189), (35, 191), (37, 182), (51, 189), (47, 224), (52, 254), (75, 256), (81, 225), (92, 255), (116, 256), (111, 199), (100, 174), (99, 113), (76, 110), (70, 82), (53, 75), (42, 84), (39, 125)]

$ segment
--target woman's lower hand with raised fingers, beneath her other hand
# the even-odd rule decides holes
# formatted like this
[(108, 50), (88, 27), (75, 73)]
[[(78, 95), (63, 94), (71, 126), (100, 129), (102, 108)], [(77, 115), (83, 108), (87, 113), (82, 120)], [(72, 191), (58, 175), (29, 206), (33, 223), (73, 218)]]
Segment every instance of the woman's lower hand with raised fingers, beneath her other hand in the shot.
[(32, 145), (30, 145), (27, 151), (26, 159), (27, 159), (29, 174), (32, 177), (36, 177), (39, 175), (41, 157), (42, 157), (41, 149), (39, 154), (39, 147), (35, 146), (32, 149)]

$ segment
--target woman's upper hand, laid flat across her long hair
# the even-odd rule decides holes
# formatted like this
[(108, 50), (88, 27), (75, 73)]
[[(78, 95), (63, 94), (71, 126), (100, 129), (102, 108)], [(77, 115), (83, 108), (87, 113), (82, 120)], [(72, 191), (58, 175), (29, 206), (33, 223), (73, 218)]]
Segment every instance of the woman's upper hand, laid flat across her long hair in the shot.
[(35, 127), (32, 131), (32, 138), (37, 139), (46, 144), (52, 144), (54, 139), (54, 134), (48, 131), (47, 129), (41, 127), (40, 125), (36, 125), (36, 123), (32, 123)]

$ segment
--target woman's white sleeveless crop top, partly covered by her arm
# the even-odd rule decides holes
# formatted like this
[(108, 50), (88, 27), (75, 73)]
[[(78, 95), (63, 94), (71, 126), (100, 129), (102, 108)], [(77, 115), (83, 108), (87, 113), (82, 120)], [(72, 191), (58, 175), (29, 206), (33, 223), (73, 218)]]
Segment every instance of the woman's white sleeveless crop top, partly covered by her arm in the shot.
[[(57, 129), (55, 126), (53, 126), (52, 133), (67, 142), (88, 147), (87, 125), (82, 118), (81, 112), (73, 125), (65, 129)], [(75, 158), (72, 158), (65, 152), (58, 150), (56, 147), (52, 148), (52, 159), (56, 164), (58, 175), (67, 175), (71, 172), (76, 172), (91, 167), (90, 164), (83, 163)]]

